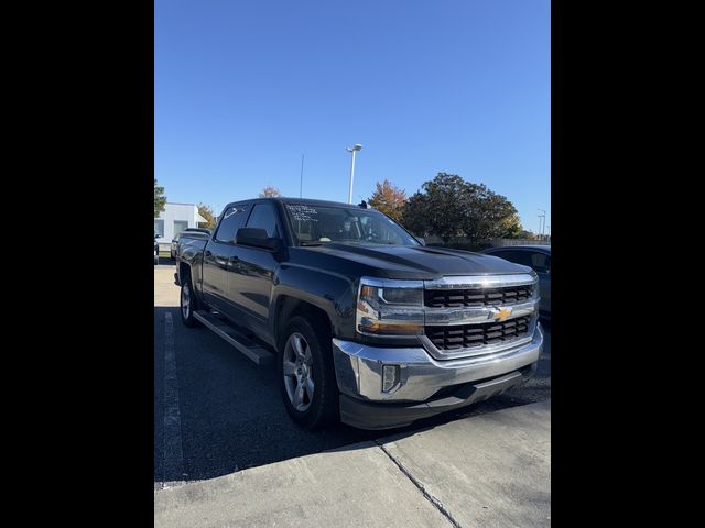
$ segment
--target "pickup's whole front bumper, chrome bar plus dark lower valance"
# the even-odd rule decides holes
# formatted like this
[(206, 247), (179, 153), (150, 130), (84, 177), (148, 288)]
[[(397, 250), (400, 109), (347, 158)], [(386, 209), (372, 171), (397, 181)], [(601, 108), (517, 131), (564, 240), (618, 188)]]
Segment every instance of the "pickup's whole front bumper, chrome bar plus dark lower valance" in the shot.
[[(360, 429), (389, 429), (481, 402), (531, 377), (542, 351), (539, 324), (528, 343), (453, 361), (436, 361), (422, 348), (380, 349), (334, 339), (340, 419)], [(384, 365), (399, 366), (390, 391), (382, 391)]]

